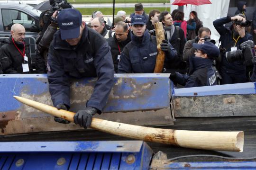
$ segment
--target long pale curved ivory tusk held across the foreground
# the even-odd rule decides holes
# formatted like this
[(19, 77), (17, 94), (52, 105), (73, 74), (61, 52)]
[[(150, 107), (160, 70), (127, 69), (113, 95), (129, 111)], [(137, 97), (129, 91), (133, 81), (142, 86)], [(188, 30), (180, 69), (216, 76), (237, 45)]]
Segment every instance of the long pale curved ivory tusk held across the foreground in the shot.
[[(58, 110), (55, 107), (48, 106), (27, 98), (18, 96), (14, 96), (14, 98), (28, 106), (73, 122), (73, 116), (75, 114), (73, 112)], [(128, 138), (155, 143), (167, 143), (195, 149), (243, 152), (244, 146), (244, 132), (210, 132), (160, 129), (111, 122), (99, 118), (92, 118), (91, 128)]]

